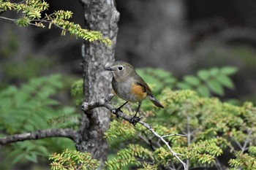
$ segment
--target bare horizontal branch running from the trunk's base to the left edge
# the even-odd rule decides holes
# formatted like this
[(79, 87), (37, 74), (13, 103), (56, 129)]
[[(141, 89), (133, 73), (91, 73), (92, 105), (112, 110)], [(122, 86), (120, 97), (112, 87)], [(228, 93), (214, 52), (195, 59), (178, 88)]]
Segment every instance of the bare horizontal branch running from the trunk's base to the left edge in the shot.
[(78, 132), (72, 128), (56, 128), (34, 131), (26, 134), (14, 134), (0, 138), (0, 145), (10, 144), (13, 142), (20, 142), (26, 140), (37, 140), (48, 137), (66, 137), (76, 141), (78, 139)]

